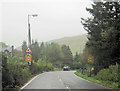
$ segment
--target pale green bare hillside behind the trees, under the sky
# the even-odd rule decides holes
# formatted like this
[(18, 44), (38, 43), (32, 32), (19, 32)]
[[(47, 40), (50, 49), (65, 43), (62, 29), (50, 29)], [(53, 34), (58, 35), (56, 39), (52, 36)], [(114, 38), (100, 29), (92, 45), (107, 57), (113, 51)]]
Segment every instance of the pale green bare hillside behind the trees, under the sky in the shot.
[(65, 37), (61, 39), (52, 40), (50, 42), (56, 42), (60, 45), (69, 45), (73, 55), (75, 55), (76, 52), (82, 53), (83, 49), (85, 48), (85, 44), (87, 42), (87, 34), (79, 35), (79, 36), (73, 36), (73, 37)]

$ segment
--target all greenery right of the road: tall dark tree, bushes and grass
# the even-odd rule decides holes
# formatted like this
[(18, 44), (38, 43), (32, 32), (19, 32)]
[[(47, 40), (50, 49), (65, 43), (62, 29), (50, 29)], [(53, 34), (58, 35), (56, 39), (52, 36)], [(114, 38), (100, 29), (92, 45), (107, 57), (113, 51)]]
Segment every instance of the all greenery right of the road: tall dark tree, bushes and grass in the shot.
[[(93, 2), (91, 6), (86, 8), (91, 17), (81, 18), (84, 29), (88, 32), (88, 42), (83, 53), (75, 55), (82, 64), (75, 74), (118, 89), (120, 88), (120, 3)], [(88, 56), (94, 57), (93, 63), (88, 63)]]

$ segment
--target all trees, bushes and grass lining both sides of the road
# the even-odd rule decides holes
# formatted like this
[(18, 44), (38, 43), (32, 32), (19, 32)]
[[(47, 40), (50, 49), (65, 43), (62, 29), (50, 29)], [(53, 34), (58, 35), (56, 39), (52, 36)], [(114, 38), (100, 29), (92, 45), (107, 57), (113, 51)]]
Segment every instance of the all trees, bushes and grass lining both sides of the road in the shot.
[[(82, 53), (76, 52), (73, 56), (69, 46), (33, 40), (30, 46), (32, 64), (28, 65), (25, 62), (27, 43), (24, 41), (22, 51), (14, 50), (12, 56), (1, 52), (3, 88), (18, 88), (36, 74), (60, 70), (65, 65), (77, 69), (75, 74), (87, 80), (113, 89), (120, 88), (120, 3), (94, 2), (92, 8), (86, 10), (92, 16), (82, 18), (88, 32)], [(94, 57), (93, 63), (88, 63), (88, 56)]]

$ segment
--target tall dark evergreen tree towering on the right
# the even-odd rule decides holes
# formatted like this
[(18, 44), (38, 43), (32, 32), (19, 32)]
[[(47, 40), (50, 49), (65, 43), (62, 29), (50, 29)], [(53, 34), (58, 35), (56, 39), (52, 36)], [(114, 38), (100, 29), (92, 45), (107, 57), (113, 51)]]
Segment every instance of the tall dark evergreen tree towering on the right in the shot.
[(91, 18), (83, 19), (82, 24), (89, 34), (86, 46), (95, 58), (96, 72), (107, 68), (119, 60), (120, 3), (94, 2), (86, 8)]

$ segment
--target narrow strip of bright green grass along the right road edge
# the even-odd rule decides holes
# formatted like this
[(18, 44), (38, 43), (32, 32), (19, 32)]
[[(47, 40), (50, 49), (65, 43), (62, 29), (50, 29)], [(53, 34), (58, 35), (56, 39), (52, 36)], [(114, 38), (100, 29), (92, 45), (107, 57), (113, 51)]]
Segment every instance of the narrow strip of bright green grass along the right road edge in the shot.
[(93, 83), (97, 83), (97, 84), (102, 85), (104, 87), (111, 88), (115, 91), (120, 91), (120, 89), (118, 89), (118, 82), (96, 80), (94, 77), (88, 77), (88, 76), (82, 75), (81, 73), (78, 73), (78, 72), (75, 72), (74, 74), (79, 76), (79, 77), (82, 77), (88, 81), (91, 81)]

